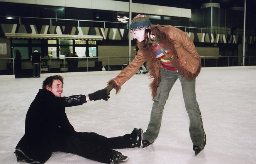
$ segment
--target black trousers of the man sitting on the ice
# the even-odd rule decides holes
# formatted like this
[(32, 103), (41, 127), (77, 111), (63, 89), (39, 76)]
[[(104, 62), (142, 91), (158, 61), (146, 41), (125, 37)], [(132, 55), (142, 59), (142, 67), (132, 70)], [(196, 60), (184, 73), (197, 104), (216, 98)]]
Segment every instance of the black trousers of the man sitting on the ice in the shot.
[(102, 163), (110, 163), (112, 149), (131, 148), (131, 134), (107, 138), (94, 132), (75, 132), (72, 135), (56, 131), (52, 141), (52, 152), (62, 151), (83, 156)]

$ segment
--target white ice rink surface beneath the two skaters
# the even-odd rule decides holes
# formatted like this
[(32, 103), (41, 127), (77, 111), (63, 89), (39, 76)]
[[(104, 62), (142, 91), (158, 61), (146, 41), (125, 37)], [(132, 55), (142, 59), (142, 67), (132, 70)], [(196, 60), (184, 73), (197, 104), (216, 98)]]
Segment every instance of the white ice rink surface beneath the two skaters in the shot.
[[(103, 89), (120, 71), (62, 73), (63, 96)], [(25, 115), (42, 87), (40, 78), (0, 79), (0, 163), (17, 164), (15, 146), (24, 135)], [(1, 76), (0, 76), (1, 78)], [(119, 94), (66, 108), (76, 131), (123, 136), (134, 127), (147, 129), (152, 98), (148, 75), (134, 75)], [(207, 135), (205, 149), (194, 155), (180, 81), (170, 92), (156, 141), (147, 148), (116, 149), (126, 164), (256, 163), (256, 67), (203, 68), (196, 83), (197, 101)], [(47, 103), (47, 102), (46, 102)], [(75, 154), (54, 152), (46, 164), (97, 164)]]

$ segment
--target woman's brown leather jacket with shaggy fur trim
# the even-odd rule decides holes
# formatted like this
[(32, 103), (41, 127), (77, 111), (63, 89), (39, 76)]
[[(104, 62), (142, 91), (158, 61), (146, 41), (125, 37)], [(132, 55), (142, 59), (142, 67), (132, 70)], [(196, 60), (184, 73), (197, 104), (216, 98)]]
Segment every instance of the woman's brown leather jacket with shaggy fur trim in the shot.
[[(175, 69), (184, 75), (187, 80), (195, 79), (201, 70), (201, 59), (195, 49), (195, 45), (186, 33), (171, 25), (165, 27), (152, 25), (151, 33), (156, 36), (158, 43), (164, 43), (165, 48), (174, 55), (172, 63)], [(111, 84), (116, 89), (116, 93), (119, 92), (121, 85), (129, 80), (146, 61), (149, 76), (153, 79), (150, 88), (152, 90), (152, 97), (154, 97), (161, 80), (161, 63), (156, 59), (150, 44), (138, 42), (137, 45), (139, 51), (135, 59), (119, 75), (110, 80), (108, 84)], [(188, 69), (193, 73), (189, 72)]]

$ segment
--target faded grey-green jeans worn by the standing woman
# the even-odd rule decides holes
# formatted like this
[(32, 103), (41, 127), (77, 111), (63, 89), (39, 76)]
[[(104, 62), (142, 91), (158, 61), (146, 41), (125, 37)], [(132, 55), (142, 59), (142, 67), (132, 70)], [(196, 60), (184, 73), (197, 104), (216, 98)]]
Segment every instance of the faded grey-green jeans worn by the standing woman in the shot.
[(143, 133), (143, 139), (153, 142), (158, 137), (164, 105), (177, 79), (181, 82), (183, 99), (190, 119), (190, 138), (192, 139), (193, 145), (197, 145), (203, 149), (205, 146), (205, 132), (203, 130), (202, 116), (196, 99), (195, 80), (187, 81), (180, 73), (164, 68), (161, 69), (161, 82), (159, 83), (157, 94), (152, 99), (154, 102), (150, 121), (147, 131)]

